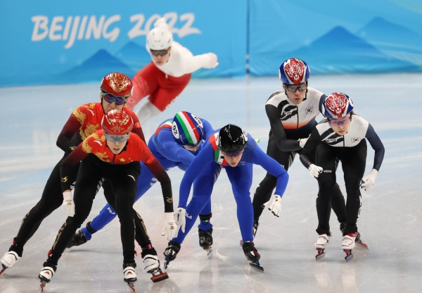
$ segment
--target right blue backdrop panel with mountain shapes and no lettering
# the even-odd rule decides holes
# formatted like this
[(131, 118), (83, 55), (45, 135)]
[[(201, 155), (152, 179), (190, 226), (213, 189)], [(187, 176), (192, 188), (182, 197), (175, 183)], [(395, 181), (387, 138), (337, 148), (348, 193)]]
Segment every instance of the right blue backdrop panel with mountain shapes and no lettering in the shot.
[(422, 1), (250, 0), (249, 51), (256, 76), (288, 58), (312, 74), (420, 72)]

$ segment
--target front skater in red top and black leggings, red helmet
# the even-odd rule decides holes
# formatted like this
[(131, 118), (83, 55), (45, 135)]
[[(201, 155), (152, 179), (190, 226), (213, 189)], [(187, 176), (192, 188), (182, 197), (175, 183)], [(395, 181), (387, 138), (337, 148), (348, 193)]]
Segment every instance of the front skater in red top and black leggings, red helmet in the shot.
[[(172, 202), (170, 178), (151, 151), (138, 136), (130, 135), (134, 126), (132, 117), (124, 110), (112, 110), (101, 122), (102, 130), (94, 132), (79, 144), (75, 151), (60, 165), (61, 185), (68, 218), (60, 228), (56, 241), (49, 251), (49, 258), (43, 265), (39, 279), (41, 287), (50, 282), (56, 271), (58, 259), (82, 222), (91, 211), (96, 196), (96, 186), (101, 178), (109, 182), (110, 191), (104, 195), (113, 206), (120, 220), (120, 235), (123, 248), (124, 281), (132, 285), (136, 281), (134, 261), (134, 217), (139, 217), (133, 209), (136, 197), (136, 182), (141, 172), (139, 161), (143, 162), (161, 183), (162, 193)], [(72, 200), (70, 182), (66, 180), (72, 167), (79, 161), (79, 173)], [(138, 234), (138, 231), (136, 231)], [(44, 284), (43, 284), (44, 283)]]

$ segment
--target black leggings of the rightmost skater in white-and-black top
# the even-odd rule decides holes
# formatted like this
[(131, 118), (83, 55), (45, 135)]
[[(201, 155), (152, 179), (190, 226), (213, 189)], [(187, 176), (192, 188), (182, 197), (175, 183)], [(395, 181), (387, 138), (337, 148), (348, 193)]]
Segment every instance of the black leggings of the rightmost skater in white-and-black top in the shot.
[(364, 177), (366, 165), (366, 140), (362, 139), (357, 146), (334, 147), (318, 144), (315, 153), (315, 165), (324, 171), (319, 174), (319, 192), (316, 199), (316, 213), (318, 213), (318, 234), (330, 232), (330, 203), (333, 197), (335, 183), (335, 162), (341, 161), (345, 177), (347, 193), (347, 226), (343, 235), (357, 232), (357, 218), (361, 208), (361, 193), (359, 185)]

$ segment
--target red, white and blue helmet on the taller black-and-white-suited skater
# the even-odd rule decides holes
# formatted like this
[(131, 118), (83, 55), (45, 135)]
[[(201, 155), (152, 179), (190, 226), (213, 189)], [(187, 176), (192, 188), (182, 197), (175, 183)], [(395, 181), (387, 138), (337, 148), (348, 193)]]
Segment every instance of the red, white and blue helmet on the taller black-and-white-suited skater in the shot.
[(305, 61), (296, 58), (290, 58), (281, 64), (279, 68), (279, 77), (287, 85), (299, 85), (306, 82), (311, 75), (311, 70)]

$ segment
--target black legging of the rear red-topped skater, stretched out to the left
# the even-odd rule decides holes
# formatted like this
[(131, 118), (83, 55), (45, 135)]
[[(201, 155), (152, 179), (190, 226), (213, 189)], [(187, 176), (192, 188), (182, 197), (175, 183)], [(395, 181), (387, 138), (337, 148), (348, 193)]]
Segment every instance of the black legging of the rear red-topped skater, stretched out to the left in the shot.
[[(9, 251), (15, 251), (18, 256), (22, 257), (23, 247), (38, 230), (42, 220), (63, 204), (63, 193), (60, 185), (60, 164), (67, 156), (68, 154), (65, 154), (63, 158), (58, 161), (50, 174), (49, 180), (46, 182), (41, 199), (39, 199), (38, 203), (31, 208), (25, 217), (23, 217), (18, 235), (14, 239), (14, 244), (9, 249)], [(72, 168), (72, 173), (68, 176), (67, 180), (75, 182), (78, 169), (79, 164)]]

